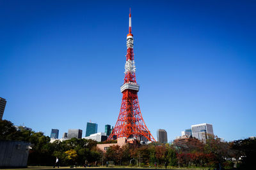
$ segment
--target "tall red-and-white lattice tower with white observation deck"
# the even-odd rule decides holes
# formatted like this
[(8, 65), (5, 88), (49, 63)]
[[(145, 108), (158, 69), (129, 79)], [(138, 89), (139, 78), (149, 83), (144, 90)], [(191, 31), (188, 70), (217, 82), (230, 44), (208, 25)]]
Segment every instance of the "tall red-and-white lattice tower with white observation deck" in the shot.
[(122, 104), (115, 128), (109, 139), (120, 137), (139, 139), (140, 141), (156, 141), (142, 118), (138, 91), (140, 86), (136, 82), (136, 67), (133, 54), (133, 35), (131, 26), (131, 10), (129, 14), (129, 34), (127, 34), (127, 55), (125, 62), (124, 84), (121, 87), (123, 94)]

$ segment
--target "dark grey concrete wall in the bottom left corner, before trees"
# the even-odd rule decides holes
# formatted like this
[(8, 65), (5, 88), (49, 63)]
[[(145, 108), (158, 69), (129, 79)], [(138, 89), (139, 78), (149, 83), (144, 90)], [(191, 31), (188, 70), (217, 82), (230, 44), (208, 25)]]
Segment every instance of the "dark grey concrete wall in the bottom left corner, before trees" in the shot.
[(24, 141), (0, 141), (0, 168), (26, 167), (29, 145)]

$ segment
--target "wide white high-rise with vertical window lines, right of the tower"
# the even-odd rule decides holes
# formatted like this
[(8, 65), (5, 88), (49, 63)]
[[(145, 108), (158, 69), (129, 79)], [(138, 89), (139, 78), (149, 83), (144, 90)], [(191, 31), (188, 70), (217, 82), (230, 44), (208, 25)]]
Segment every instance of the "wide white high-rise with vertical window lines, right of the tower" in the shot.
[(211, 124), (191, 125), (192, 136), (200, 141), (205, 141), (209, 138), (214, 138)]

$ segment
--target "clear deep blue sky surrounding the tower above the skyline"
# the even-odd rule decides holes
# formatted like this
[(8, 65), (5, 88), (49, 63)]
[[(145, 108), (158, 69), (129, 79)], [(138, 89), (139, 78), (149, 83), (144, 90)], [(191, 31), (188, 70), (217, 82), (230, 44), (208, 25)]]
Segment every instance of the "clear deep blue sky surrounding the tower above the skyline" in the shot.
[(0, 0), (4, 119), (35, 131), (115, 125), (129, 8), (140, 108), (168, 141), (209, 123), (227, 141), (256, 136), (255, 1)]

